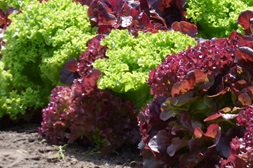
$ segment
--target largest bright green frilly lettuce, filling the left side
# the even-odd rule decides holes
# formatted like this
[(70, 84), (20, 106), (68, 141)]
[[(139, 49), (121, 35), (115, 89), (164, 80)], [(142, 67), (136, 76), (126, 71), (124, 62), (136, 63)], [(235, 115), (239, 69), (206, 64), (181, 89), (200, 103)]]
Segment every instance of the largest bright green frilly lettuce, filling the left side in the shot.
[[(52, 88), (61, 84), (65, 61), (77, 58), (95, 35), (87, 9), (72, 0), (34, 1), (22, 13), (10, 15), (12, 23), (4, 31), (6, 46), (1, 51), (12, 77), (10, 94), (1, 98), (9, 100), (8, 113), (15, 116), (19, 108), (25, 111), (48, 102)], [(22, 107), (16, 108), (18, 101)]]

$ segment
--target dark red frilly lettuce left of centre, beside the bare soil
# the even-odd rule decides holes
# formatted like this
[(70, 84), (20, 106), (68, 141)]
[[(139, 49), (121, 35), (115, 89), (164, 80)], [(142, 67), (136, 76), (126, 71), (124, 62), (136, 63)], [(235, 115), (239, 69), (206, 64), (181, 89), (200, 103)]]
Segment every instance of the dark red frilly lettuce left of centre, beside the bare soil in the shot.
[[(79, 140), (112, 152), (124, 144), (137, 145), (140, 140), (133, 104), (97, 88), (101, 72), (93, 68), (92, 62), (104, 58), (106, 48), (100, 45), (103, 38), (98, 35), (89, 40), (80, 61), (71, 59), (64, 65), (62, 78), (72, 84), (55, 87), (50, 103), (42, 110), (39, 133), (49, 142)], [(79, 77), (73, 81), (71, 72), (75, 69)]]

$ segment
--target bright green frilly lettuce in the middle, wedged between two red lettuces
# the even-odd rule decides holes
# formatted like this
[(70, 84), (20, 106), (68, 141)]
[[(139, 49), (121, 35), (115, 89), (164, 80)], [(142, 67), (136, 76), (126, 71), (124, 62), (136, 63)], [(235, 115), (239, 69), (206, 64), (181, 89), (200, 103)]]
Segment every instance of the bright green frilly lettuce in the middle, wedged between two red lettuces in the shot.
[(93, 63), (102, 72), (98, 87), (112, 90), (140, 107), (150, 97), (146, 83), (149, 71), (156, 68), (167, 54), (185, 50), (196, 45), (196, 41), (172, 31), (139, 32), (135, 38), (127, 30), (114, 30), (101, 44), (108, 47), (108, 59), (98, 59)]

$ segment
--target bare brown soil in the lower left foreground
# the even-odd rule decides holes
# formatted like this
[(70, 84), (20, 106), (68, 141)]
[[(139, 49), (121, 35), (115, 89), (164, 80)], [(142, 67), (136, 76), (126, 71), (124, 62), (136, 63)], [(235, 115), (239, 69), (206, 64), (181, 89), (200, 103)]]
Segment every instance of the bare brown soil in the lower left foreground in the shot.
[[(101, 154), (78, 144), (49, 145), (38, 133), (38, 124), (0, 129), (0, 168), (133, 168), (139, 167), (139, 151), (124, 148)], [(60, 155), (60, 148), (63, 154)]]

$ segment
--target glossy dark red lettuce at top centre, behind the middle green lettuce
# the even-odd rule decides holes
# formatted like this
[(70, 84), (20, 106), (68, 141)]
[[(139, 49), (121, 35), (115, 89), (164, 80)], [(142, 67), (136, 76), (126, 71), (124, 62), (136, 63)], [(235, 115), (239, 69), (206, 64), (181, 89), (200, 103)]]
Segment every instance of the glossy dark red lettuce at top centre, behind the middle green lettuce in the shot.
[[(89, 5), (88, 16), (99, 34), (112, 29), (128, 29), (134, 35), (138, 31), (158, 32), (168, 30), (176, 21), (186, 21), (185, 0), (76, 0)], [(173, 28), (172, 28), (173, 29)]]

